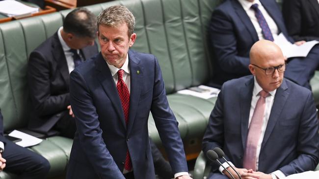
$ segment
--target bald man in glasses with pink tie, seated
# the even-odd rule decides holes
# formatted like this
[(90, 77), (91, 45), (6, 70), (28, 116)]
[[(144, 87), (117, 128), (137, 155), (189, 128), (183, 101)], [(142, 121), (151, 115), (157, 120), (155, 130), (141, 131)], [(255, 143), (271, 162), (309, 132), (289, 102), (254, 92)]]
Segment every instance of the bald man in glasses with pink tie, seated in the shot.
[[(285, 59), (271, 41), (252, 46), (249, 70), (253, 75), (222, 86), (204, 134), (203, 152), (221, 148), (242, 179), (283, 179), (314, 170), (319, 135), (312, 92), (283, 77)], [(222, 167), (218, 171), (214, 165), (212, 172), (210, 179), (231, 179)]]

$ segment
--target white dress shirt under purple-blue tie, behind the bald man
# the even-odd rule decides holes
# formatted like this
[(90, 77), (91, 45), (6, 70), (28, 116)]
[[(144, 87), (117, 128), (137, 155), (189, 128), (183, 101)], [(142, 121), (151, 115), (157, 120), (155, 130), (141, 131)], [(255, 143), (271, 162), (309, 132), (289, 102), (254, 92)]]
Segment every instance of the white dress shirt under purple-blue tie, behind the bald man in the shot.
[(264, 8), (264, 6), (262, 5), (262, 3), (259, 0), (254, 0), (253, 2), (249, 2), (247, 0), (238, 0), (238, 1), (241, 4), (241, 6), (243, 7), (243, 9), (246, 11), (250, 21), (253, 23), (253, 25), (256, 29), (256, 32), (258, 34), (259, 40), (262, 40), (265, 38), (264, 38), (263, 33), (262, 33), (262, 28), (260, 27), (260, 25), (257, 21), (257, 18), (255, 16), (255, 11), (250, 8), (253, 4), (258, 4), (258, 8), (263, 13), (264, 18), (266, 19), (266, 22), (269, 26), (272, 37), (275, 39), (275, 37), (278, 36), (279, 31), (278, 31), (277, 24), (269, 16), (268, 12), (266, 11), (266, 9)]

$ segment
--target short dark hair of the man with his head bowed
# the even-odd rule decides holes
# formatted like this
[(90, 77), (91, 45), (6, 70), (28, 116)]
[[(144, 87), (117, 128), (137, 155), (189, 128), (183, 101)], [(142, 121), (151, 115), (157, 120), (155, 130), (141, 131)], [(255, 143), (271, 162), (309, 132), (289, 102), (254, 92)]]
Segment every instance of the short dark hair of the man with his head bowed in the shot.
[(86, 8), (76, 8), (64, 19), (63, 31), (77, 37), (96, 37), (96, 16)]

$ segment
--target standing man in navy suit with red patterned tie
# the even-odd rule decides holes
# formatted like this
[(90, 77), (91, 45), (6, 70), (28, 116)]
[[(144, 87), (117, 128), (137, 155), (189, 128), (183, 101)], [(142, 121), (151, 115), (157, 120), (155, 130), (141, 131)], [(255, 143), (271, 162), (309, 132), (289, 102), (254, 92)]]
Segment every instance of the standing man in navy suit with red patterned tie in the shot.
[(67, 179), (155, 179), (150, 111), (175, 178), (190, 179), (158, 60), (129, 50), (136, 39), (133, 14), (124, 6), (111, 6), (97, 24), (101, 52), (70, 76), (78, 130)]

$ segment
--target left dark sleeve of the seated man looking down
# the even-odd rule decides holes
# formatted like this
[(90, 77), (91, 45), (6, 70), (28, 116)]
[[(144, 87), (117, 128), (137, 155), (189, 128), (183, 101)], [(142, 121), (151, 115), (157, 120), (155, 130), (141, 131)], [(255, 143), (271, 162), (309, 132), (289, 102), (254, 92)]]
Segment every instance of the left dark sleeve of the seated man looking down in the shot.
[(50, 89), (50, 64), (39, 52), (32, 52), (28, 62), (28, 86), (32, 104), (38, 115), (50, 115), (70, 105), (70, 94), (52, 95)]

